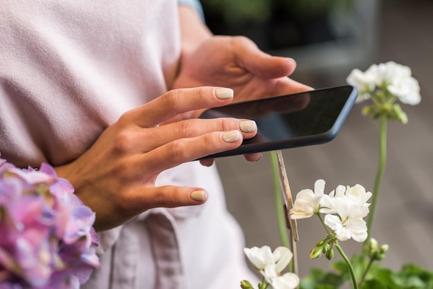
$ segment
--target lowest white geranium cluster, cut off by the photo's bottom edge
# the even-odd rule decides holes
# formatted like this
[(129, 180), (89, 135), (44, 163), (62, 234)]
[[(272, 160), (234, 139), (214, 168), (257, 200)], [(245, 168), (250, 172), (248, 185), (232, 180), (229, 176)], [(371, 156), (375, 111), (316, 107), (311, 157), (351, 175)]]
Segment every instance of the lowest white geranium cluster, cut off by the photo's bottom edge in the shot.
[[(272, 252), (270, 247), (265, 245), (261, 248), (244, 248), (243, 252), (274, 289), (294, 289), (299, 285), (300, 279), (296, 274), (291, 272), (282, 274), (293, 257), (293, 253), (288, 248), (278, 247)], [(266, 287), (264, 282), (259, 283), (259, 288)], [(242, 281), (241, 288), (252, 289), (253, 287), (248, 281)]]

